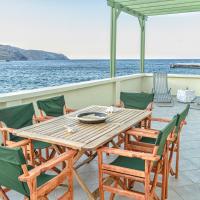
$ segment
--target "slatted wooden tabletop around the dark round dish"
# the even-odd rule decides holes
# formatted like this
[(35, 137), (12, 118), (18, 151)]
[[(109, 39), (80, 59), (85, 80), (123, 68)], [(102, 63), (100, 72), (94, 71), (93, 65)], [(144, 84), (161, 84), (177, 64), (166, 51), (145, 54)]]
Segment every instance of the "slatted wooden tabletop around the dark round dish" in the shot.
[[(95, 149), (151, 114), (149, 111), (122, 108), (117, 112), (108, 113), (106, 123), (83, 124), (76, 118), (78, 113), (106, 112), (107, 108), (89, 106), (68, 115), (14, 130), (14, 134), (74, 149)], [(67, 126), (75, 127), (77, 131), (69, 133)]]

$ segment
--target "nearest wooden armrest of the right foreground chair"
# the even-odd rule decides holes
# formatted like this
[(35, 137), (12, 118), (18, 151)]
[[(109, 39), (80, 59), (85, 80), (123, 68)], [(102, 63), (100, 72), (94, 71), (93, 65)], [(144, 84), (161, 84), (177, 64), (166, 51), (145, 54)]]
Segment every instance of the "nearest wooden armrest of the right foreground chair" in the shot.
[(157, 156), (157, 155), (155, 156), (151, 153), (128, 151), (128, 150), (109, 148), (109, 147), (103, 147), (99, 149), (98, 151), (102, 153), (115, 154), (118, 156), (125, 156), (129, 158), (140, 158), (143, 160), (150, 160), (150, 161), (158, 161), (160, 159), (160, 156)]

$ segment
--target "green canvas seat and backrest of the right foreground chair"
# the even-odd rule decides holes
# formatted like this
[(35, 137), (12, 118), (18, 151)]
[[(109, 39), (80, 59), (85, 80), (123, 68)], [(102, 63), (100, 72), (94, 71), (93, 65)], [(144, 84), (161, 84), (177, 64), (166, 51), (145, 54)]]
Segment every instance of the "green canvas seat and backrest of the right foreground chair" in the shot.
[[(160, 155), (162, 158), (162, 154), (164, 151), (164, 147), (167, 141), (167, 138), (169, 134), (174, 130), (176, 123), (178, 120), (178, 116), (174, 116), (173, 119), (169, 124), (164, 127), (159, 135), (158, 138), (156, 139), (155, 145), (158, 146), (158, 152), (157, 155)], [(145, 170), (145, 161), (140, 159), (140, 158), (128, 158), (124, 156), (118, 156), (112, 163), (111, 165), (119, 166), (119, 167), (124, 167), (124, 168), (129, 168), (129, 169), (135, 169), (139, 171), (144, 171)]]

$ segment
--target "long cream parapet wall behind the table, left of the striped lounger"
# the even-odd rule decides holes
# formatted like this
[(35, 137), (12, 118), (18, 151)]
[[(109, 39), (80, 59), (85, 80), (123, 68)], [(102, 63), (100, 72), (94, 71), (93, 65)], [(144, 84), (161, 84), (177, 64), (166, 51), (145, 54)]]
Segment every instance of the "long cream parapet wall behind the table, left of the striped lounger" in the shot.
[(48, 97), (64, 95), (66, 103), (72, 108), (81, 108), (91, 104), (113, 105), (119, 101), (120, 91), (140, 92), (142, 74), (116, 78), (87, 81), (61, 86), (25, 90), (0, 95), (0, 107), (9, 107), (33, 102)]

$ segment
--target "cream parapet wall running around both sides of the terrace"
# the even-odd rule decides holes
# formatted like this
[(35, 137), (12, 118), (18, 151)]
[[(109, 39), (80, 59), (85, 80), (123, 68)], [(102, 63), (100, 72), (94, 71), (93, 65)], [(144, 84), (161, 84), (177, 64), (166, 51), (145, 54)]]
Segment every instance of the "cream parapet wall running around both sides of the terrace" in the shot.
[[(200, 95), (200, 75), (169, 75), (169, 87), (172, 94), (177, 90), (189, 88)], [(0, 95), (0, 108), (33, 102), (36, 108), (38, 99), (63, 94), (66, 103), (72, 108), (81, 108), (91, 104), (113, 105), (119, 102), (120, 91), (151, 92), (152, 74), (134, 74), (116, 78), (87, 81), (34, 90), (19, 91)], [(37, 110), (37, 108), (36, 108)]]

